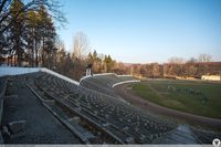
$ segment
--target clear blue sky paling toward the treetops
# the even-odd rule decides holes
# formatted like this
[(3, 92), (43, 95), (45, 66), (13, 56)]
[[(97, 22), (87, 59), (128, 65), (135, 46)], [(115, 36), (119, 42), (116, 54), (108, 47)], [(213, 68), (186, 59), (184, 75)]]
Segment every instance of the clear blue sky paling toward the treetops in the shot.
[(92, 51), (127, 63), (208, 53), (221, 61), (221, 0), (64, 0), (66, 50), (87, 34)]

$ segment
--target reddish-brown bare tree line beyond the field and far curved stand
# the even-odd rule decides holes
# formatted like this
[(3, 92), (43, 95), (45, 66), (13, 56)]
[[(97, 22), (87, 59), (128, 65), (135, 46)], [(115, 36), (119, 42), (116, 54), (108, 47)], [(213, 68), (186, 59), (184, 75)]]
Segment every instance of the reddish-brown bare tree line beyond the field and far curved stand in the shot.
[(88, 54), (93, 61), (93, 72), (113, 72), (117, 74), (131, 74), (139, 77), (151, 78), (201, 78), (201, 75), (221, 75), (221, 62), (212, 62), (210, 54), (200, 54), (197, 59), (185, 61), (181, 57), (170, 57), (167, 63), (125, 64), (116, 62), (110, 56), (97, 56), (96, 51)]

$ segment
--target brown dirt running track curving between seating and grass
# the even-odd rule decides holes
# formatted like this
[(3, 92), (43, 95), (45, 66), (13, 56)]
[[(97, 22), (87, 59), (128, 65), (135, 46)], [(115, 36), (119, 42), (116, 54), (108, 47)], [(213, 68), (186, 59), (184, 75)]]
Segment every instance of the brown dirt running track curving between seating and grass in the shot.
[(188, 114), (188, 113), (179, 112), (176, 109), (159, 106), (159, 105), (151, 103), (149, 101), (146, 101), (146, 99), (141, 98), (140, 96), (136, 95), (135, 93), (133, 93), (133, 91), (128, 88), (129, 85), (133, 85), (133, 83), (117, 85), (114, 87), (114, 91), (119, 96), (125, 98), (127, 102), (131, 103), (134, 106), (137, 106), (141, 109), (149, 111), (149, 112), (152, 112), (156, 114), (160, 114), (164, 116), (169, 116), (169, 117), (172, 117), (176, 119), (181, 119), (187, 123), (199, 124), (202, 126), (210, 126), (212, 128), (217, 128), (217, 129), (221, 130), (221, 119), (198, 116), (198, 115)]

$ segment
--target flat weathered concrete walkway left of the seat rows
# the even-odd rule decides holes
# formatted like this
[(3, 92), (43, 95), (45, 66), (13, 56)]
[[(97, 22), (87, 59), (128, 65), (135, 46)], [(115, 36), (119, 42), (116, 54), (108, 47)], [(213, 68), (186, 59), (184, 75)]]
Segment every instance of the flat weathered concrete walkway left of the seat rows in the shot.
[[(80, 144), (66, 127), (41, 104), (32, 92), (22, 83), (24, 76), (14, 76), (12, 82), (13, 94), (18, 97), (8, 96), (4, 99), (2, 125), (11, 128), (15, 134), (3, 134), (4, 144)], [(14, 88), (17, 87), (17, 88)], [(25, 127), (18, 127), (14, 122), (25, 120)], [(20, 124), (23, 126), (22, 124)], [(19, 125), (19, 126), (20, 126)], [(18, 133), (17, 133), (18, 132)]]

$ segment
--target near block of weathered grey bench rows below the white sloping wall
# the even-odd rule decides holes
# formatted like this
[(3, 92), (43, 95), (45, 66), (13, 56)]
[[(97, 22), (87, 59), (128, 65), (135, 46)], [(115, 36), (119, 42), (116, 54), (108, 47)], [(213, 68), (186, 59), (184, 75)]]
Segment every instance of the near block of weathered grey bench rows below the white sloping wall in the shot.
[[(34, 81), (32, 81), (33, 78)], [(113, 81), (117, 80), (114, 77)], [(114, 83), (113, 81), (109, 83)], [(147, 115), (118, 98), (74, 85), (48, 73), (29, 75), (27, 82), (30, 87), (42, 95), (42, 102), (46, 103), (49, 107), (54, 109), (54, 105), (67, 107), (72, 113), (110, 136), (116, 143), (151, 143), (176, 127), (175, 123), (162, 122)], [(70, 118), (67, 117), (67, 119)], [(82, 140), (93, 141), (94, 136), (82, 137)]]

